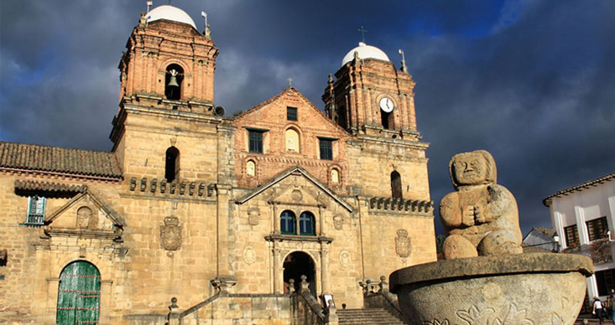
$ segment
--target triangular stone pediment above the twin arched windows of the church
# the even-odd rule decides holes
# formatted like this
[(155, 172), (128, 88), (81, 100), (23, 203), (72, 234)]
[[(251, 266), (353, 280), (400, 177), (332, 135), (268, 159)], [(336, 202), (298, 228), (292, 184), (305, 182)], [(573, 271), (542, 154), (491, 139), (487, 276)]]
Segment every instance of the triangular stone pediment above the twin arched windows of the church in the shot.
[(352, 213), (352, 206), (333, 193), (317, 178), (300, 166), (295, 166), (277, 174), (263, 186), (254, 189), (236, 203), (244, 204), (253, 198), (264, 196), (269, 202), (299, 204), (306, 206), (325, 206), (336, 204)]

